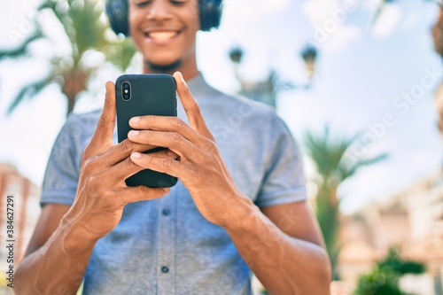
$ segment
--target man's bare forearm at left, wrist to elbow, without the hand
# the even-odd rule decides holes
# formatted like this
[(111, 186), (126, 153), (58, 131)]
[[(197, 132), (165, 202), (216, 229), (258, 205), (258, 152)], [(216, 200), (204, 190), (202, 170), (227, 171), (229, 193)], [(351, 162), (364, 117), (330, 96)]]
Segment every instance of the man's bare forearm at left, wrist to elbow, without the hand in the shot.
[(50, 239), (19, 264), (15, 293), (75, 294), (95, 245), (82, 237), (82, 229), (62, 219)]

